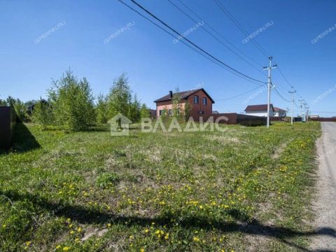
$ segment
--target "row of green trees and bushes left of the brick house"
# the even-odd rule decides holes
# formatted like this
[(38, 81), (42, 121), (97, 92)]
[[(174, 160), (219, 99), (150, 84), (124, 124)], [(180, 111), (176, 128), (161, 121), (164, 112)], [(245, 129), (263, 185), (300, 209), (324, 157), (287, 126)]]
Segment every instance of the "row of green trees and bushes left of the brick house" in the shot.
[[(57, 125), (65, 130), (87, 130), (93, 125), (107, 123), (118, 113), (133, 122), (150, 116), (146, 104), (141, 104), (137, 94), (133, 94), (126, 73), (113, 81), (106, 96), (99, 94), (96, 103), (88, 80), (77, 78), (70, 70), (59, 80), (52, 80), (52, 87), (47, 90), (47, 94), (47, 101), (24, 103), (20, 99), (8, 97), (0, 100), (0, 106), (13, 106), (20, 120), (31, 120), (44, 129)], [(27, 107), (33, 104), (34, 110), (29, 115)]]

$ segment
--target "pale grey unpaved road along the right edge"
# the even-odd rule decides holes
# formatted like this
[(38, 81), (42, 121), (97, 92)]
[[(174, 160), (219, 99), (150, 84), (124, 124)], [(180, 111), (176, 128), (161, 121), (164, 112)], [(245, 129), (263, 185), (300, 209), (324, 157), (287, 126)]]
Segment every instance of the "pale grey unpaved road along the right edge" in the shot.
[(317, 198), (314, 202), (316, 221), (312, 251), (336, 251), (336, 123), (321, 123), (318, 139), (319, 157)]

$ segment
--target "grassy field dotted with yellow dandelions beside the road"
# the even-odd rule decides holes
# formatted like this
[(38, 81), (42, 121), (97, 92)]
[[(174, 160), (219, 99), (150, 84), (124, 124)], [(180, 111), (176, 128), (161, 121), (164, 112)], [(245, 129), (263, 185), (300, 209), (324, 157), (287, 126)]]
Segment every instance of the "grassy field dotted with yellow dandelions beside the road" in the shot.
[(17, 126), (0, 154), (1, 251), (296, 251), (318, 123), (225, 132)]

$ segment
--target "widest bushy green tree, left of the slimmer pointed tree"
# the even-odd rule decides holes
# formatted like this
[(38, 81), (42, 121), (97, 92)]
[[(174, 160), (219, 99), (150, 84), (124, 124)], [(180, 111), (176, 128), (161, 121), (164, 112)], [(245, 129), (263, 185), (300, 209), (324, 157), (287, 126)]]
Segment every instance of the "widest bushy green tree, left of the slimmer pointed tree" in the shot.
[(52, 84), (48, 94), (56, 125), (78, 131), (95, 123), (94, 97), (86, 78), (78, 80), (71, 71), (66, 71)]

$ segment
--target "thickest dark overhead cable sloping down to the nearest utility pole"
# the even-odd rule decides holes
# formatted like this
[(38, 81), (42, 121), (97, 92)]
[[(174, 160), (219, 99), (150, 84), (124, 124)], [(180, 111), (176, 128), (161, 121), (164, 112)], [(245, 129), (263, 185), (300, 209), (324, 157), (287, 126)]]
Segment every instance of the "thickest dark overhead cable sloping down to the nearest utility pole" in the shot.
[[(122, 3), (124, 3), (122, 0), (118, 0)], [(162, 25), (165, 25), (165, 27), (167, 27), (168, 29), (174, 31), (175, 34), (178, 34), (179, 36), (181, 36), (181, 38), (183, 38), (184, 40), (188, 41), (188, 43), (190, 43), (191, 45), (195, 46), (195, 48), (197, 48), (198, 50), (201, 50), (202, 52), (204, 52), (206, 55), (208, 55), (209, 57), (211, 57), (212, 59), (216, 60), (217, 62), (223, 64), (224, 66), (226, 66), (228, 69), (235, 71), (235, 73), (244, 76), (248, 79), (254, 80), (258, 83), (265, 83), (262, 80), (257, 80), (255, 78), (252, 78), (248, 75), (246, 75), (245, 73), (241, 73), (241, 71), (238, 71), (234, 68), (232, 68), (231, 66), (229, 66), (228, 64), (225, 64), (224, 62), (221, 61), (221, 59), (218, 59), (217, 57), (214, 57), (213, 55), (211, 55), (209, 52), (207, 52), (206, 50), (200, 48), (200, 46), (196, 45), (195, 43), (193, 43), (192, 41), (190, 41), (188, 38), (184, 37), (182, 34), (180, 34), (178, 31), (176, 31), (175, 29), (173, 29), (172, 27), (170, 27), (169, 25), (167, 25), (167, 23), (163, 22), (162, 20), (160, 20), (160, 18), (156, 17), (153, 13), (151, 13), (149, 10), (147, 10), (146, 8), (144, 8), (143, 6), (141, 6), (139, 3), (137, 3), (137, 1), (131, 0), (134, 4), (136, 4), (139, 8), (141, 8), (142, 10), (144, 10), (146, 13), (148, 13), (148, 15), (151, 15), (153, 18), (155, 18), (155, 20), (158, 20)], [(126, 6), (127, 4), (124, 3)], [(239, 77), (241, 77), (239, 76)]]

